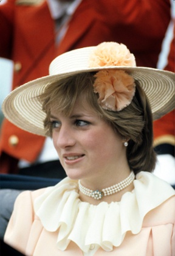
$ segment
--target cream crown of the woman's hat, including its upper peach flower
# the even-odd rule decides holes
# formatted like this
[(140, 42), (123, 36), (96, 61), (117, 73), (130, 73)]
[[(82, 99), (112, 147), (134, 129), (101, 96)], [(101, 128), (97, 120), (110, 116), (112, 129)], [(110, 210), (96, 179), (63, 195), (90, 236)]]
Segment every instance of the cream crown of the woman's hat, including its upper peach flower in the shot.
[(61, 54), (50, 63), (49, 74), (81, 73), (116, 66), (136, 66), (134, 55), (125, 44), (103, 42), (97, 46), (75, 49)]

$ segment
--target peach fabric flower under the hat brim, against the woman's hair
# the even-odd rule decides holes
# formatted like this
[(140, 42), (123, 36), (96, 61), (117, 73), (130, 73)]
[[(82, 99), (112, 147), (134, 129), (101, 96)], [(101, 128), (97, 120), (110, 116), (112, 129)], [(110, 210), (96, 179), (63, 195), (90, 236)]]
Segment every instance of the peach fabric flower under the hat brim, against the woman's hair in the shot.
[(134, 96), (134, 78), (123, 70), (107, 69), (95, 74), (94, 92), (106, 110), (120, 111), (127, 107)]

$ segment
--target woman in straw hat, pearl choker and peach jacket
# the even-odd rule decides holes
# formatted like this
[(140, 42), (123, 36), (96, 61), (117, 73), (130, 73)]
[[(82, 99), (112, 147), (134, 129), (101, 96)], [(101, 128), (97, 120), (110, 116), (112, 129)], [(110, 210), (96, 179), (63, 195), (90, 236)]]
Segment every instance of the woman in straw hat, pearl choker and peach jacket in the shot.
[(173, 256), (175, 193), (151, 174), (152, 114), (173, 109), (173, 90), (173, 73), (109, 42), (58, 56), (7, 96), (5, 116), (51, 136), (67, 177), (18, 196), (5, 242), (37, 256)]

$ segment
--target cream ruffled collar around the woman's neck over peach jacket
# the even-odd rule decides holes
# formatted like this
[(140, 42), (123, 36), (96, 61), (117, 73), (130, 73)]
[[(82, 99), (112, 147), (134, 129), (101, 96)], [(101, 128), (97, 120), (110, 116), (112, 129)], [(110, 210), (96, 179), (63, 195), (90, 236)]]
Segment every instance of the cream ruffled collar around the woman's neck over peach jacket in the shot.
[(57, 246), (61, 251), (70, 241), (85, 253), (91, 244), (112, 251), (113, 246), (122, 243), (127, 231), (139, 233), (146, 213), (173, 194), (173, 188), (163, 180), (139, 172), (134, 190), (123, 194), (120, 202), (92, 205), (80, 201), (77, 180), (66, 177), (37, 197), (34, 208), (46, 230), (55, 232), (60, 228)]

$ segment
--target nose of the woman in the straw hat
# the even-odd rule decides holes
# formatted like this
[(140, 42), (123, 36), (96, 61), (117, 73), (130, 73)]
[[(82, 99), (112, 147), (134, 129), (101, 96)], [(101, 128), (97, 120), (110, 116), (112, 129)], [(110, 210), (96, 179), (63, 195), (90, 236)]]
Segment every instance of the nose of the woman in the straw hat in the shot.
[(64, 149), (75, 145), (74, 132), (70, 127), (62, 125), (59, 132), (53, 132), (53, 144)]

